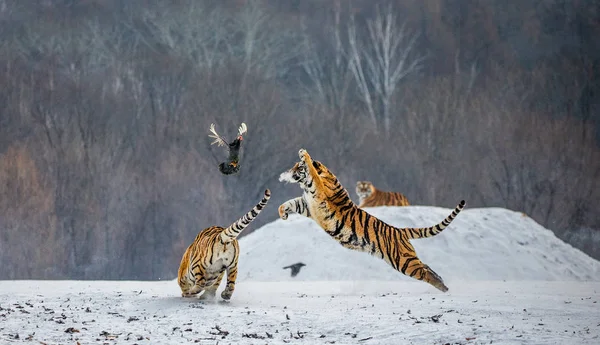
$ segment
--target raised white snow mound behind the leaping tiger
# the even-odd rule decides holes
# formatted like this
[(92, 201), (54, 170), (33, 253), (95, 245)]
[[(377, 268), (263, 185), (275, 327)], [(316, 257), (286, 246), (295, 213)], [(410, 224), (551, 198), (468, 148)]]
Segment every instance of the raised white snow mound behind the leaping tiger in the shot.
[[(451, 209), (365, 210), (397, 227), (426, 227)], [(600, 262), (520, 212), (466, 209), (441, 234), (412, 241), (419, 258), (448, 283), (459, 280), (600, 281)], [(290, 215), (240, 239), (239, 280), (412, 280), (383, 260), (342, 247), (314, 221)], [(306, 264), (292, 278), (289, 269)], [(414, 280), (413, 280), (414, 281)]]

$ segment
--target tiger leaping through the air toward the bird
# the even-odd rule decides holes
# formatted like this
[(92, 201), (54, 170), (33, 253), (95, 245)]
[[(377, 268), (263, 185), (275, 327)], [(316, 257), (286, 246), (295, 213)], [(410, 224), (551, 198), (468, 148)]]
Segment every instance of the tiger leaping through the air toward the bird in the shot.
[(460, 204), (441, 223), (428, 228), (396, 228), (358, 208), (327, 167), (311, 159), (306, 150), (298, 152), (300, 162), (279, 177), (298, 183), (302, 196), (279, 206), (279, 217), (302, 214), (316, 221), (342, 246), (378, 256), (394, 269), (447, 291), (442, 278), (421, 262), (411, 239), (435, 236), (444, 230), (465, 207)]

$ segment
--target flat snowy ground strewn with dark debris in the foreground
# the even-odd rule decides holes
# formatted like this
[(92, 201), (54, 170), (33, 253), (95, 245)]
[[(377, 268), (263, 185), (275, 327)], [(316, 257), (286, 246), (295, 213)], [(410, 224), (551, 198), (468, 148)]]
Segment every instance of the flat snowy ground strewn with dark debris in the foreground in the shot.
[(600, 283), (0, 282), (0, 344), (600, 344)]

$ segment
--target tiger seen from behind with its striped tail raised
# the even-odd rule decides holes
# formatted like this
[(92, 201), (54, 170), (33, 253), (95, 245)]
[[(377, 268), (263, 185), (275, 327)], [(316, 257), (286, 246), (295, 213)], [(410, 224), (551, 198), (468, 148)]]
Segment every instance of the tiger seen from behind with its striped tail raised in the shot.
[(237, 236), (258, 216), (270, 197), (271, 192), (267, 189), (263, 199), (227, 229), (211, 226), (198, 233), (179, 265), (177, 282), (183, 297), (192, 297), (202, 291), (204, 294), (201, 298), (214, 297), (227, 271), (227, 286), (221, 297), (226, 300), (231, 298), (240, 253)]

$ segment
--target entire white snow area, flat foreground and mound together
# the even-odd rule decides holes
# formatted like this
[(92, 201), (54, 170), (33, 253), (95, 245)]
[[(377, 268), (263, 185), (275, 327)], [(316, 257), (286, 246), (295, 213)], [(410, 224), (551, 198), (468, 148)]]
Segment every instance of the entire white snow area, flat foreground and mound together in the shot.
[[(428, 226), (451, 210), (368, 211)], [(447, 293), (299, 216), (240, 240), (230, 302), (175, 281), (0, 281), (0, 344), (600, 344), (599, 263), (528, 217), (467, 209), (413, 243)]]

